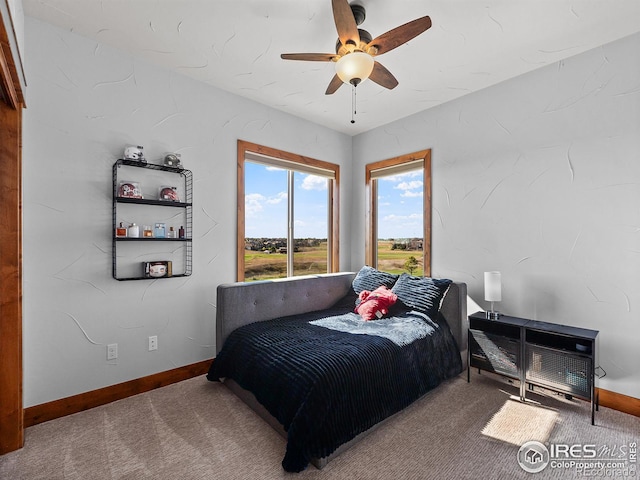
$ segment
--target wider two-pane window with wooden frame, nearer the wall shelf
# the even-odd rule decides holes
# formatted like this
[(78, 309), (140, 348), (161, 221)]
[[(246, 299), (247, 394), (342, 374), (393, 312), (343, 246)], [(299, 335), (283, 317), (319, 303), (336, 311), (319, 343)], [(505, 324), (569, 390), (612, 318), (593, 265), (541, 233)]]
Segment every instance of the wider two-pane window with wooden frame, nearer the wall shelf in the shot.
[(333, 163), (238, 141), (238, 281), (338, 270)]

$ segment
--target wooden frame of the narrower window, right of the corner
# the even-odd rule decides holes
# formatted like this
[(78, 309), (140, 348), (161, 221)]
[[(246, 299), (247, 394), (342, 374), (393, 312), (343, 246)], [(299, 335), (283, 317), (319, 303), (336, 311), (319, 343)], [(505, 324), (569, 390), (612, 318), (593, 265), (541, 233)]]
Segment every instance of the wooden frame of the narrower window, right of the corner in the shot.
[(380, 170), (389, 169), (390, 174), (393, 174), (394, 168), (401, 168), (405, 164), (413, 163), (422, 160), (423, 163), (423, 176), (422, 182), (424, 185), (423, 199), (422, 199), (422, 215), (423, 215), (423, 233), (422, 233), (422, 264), (423, 264), (423, 276), (431, 276), (431, 149), (420, 150), (418, 152), (408, 153), (400, 155), (398, 157), (388, 158), (386, 160), (380, 160), (365, 165), (365, 190), (367, 196), (367, 224), (365, 235), (365, 262), (367, 265), (377, 268), (378, 249), (375, 248), (378, 239), (378, 219), (377, 219), (377, 183), (375, 172)]

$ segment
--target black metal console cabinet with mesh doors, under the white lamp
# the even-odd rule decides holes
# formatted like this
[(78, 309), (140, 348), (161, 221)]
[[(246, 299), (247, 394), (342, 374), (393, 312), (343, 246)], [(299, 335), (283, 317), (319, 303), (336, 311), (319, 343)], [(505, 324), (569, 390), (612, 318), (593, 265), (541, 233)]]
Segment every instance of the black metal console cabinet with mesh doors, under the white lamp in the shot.
[(520, 400), (527, 386), (539, 386), (591, 402), (594, 424), (597, 330), (485, 312), (469, 316), (467, 381), (470, 369), (494, 372), (520, 381)]

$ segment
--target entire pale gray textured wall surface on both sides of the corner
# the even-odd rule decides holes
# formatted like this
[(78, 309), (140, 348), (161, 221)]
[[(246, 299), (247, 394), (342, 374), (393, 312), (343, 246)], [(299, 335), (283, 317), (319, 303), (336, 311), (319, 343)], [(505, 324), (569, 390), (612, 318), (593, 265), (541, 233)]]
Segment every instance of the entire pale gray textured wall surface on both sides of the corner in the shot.
[[(237, 138), (341, 165), (343, 269), (364, 261), (364, 164), (432, 148), (434, 274), (484, 306), (482, 272), (501, 270), (500, 310), (599, 329), (600, 386), (640, 398), (640, 36), (359, 135), (352, 153), (339, 133), (25, 23), (25, 406), (213, 356)], [(111, 278), (111, 165), (130, 143), (194, 172), (187, 279)]]

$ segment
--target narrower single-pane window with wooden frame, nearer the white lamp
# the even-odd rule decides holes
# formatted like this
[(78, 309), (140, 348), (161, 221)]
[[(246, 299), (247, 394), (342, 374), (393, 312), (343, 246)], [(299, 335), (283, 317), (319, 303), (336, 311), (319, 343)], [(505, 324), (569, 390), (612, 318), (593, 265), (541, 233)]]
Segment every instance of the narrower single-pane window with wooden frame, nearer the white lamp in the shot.
[(431, 150), (368, 164), (366, 262), (431, 275)]

